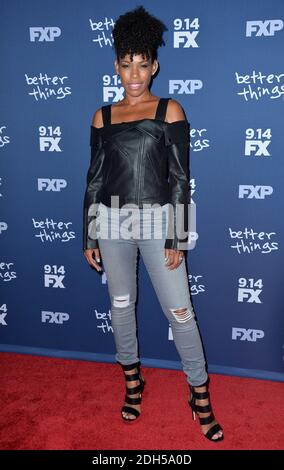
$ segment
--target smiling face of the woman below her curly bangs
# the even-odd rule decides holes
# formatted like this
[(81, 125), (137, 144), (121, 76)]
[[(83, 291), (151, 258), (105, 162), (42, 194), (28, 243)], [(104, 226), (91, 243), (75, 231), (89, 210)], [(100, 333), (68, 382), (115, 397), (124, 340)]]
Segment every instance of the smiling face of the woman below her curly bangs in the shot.
[(134, 54), (133, 60), (130, 61), (130, 54), (123, 59), (120, 58), (119, 63), (115, 60), (116, 73), (120, 75), (122, 85), (125, 92), (132, 96), (139, 96), (149, 86), (152, 75), (157, 70), (158, 62), (151, 59), (147, 60), (140, 54)]

